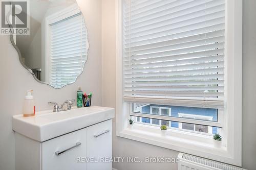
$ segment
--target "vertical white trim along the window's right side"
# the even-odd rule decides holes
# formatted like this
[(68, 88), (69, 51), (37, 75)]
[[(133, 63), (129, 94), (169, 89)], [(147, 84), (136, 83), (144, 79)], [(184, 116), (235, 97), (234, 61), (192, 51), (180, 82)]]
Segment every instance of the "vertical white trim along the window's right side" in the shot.
[[(227, 149), (233, 157), (234, 164), (242, 164), (242, 23), (243, 1), (227, 1), (226, 25), (226, 60), (225, 95), (227, 99), (224, 107), (223, 120), (226, 121), (223, 128), (227, 141)], [(228, 12), (229, 11), (229, 12)], [(228, 87), (228, 88), (227, 88)], [(227, 122), (227, 120), (229, 120)]]

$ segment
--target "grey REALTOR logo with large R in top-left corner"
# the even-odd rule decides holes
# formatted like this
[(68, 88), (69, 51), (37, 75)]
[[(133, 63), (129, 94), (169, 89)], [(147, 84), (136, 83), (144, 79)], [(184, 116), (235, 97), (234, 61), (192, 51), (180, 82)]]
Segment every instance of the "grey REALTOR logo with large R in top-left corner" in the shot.
[(27, 0), (1, 1), (1, 35), (29, 35)]

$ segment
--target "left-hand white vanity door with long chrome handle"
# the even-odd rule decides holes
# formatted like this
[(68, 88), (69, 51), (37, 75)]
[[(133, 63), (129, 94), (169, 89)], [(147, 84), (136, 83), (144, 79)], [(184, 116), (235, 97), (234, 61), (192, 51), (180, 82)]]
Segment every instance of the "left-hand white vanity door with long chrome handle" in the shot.
[(78, 163), (86, 157), (86, 129), (81, 129), (42, 142), (42, 170), (85, 170), (86, 163)]

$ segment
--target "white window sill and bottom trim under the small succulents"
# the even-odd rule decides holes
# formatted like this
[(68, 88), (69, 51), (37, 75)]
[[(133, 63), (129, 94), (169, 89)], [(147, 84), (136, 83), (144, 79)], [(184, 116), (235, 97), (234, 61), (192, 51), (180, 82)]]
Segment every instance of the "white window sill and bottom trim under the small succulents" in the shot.
[(135, 124), (133, 129), (123, 129), (118, 136), (212, 160), (233, 162), (226, 146), (214, 147), (212, 136), (173, 129), (168, 129), (167, 135), (161, 136), (159, 127), (141, 124)]

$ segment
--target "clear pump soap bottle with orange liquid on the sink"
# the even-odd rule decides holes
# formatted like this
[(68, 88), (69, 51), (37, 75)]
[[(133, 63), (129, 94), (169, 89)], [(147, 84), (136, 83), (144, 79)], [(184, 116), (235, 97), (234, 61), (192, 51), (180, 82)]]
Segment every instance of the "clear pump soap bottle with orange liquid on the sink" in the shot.
[(35, 105), (32, 95), (33, 90), (27, 90), (27, 95), (25, 96), (24, 106), (23, 106), (23, 116), (29, 117), (35, 115)]

